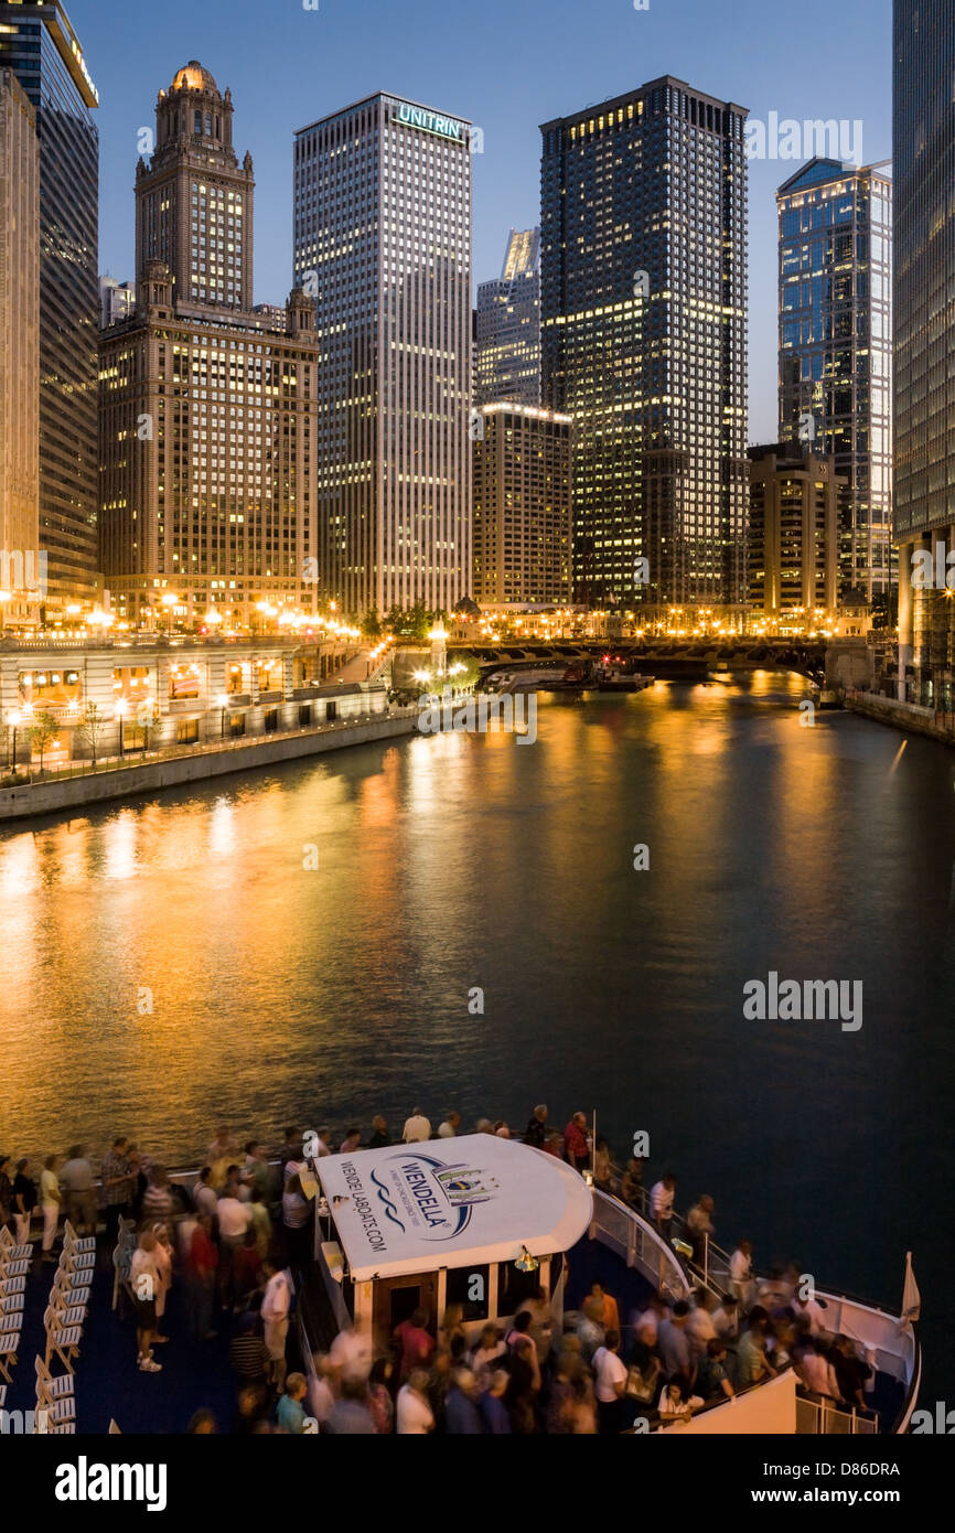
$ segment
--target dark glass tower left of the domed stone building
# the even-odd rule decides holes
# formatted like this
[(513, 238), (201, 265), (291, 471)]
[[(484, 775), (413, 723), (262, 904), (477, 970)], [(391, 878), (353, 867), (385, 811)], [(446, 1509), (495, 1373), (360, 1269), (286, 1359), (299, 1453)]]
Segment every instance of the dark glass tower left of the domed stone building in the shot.
[(98, 106), (60, 0), (0, 0), (0, 69), (17, 75), (40, 140), (40, 549), (46, 609), (97, 590)]

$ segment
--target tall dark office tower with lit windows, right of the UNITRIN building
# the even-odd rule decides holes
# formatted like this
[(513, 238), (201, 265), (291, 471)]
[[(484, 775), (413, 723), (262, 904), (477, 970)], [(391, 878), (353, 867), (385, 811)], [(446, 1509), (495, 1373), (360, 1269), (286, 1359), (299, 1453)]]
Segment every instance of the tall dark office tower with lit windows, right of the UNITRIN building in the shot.
[(543, 403), (596, 607), (742, 602), (745, 117), (665, 75), (541, 127)]

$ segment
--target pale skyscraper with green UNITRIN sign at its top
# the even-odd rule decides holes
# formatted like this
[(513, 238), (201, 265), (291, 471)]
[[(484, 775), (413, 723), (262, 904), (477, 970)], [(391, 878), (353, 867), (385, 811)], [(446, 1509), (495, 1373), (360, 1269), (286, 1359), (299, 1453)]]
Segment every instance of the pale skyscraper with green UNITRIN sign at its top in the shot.
[(296, 133), (316, 299), (319, 569), (346, 612), (471, 584), (471, 124), (377, 92)]

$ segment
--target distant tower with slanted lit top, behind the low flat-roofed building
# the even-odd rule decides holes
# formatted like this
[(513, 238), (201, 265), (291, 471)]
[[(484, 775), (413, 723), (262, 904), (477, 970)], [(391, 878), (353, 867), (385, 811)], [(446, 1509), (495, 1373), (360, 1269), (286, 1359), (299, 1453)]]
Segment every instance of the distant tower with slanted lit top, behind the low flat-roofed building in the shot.
[(512, 228), (500, 277), (478, 284), (474, 402), (541, 402), (541, 231)]

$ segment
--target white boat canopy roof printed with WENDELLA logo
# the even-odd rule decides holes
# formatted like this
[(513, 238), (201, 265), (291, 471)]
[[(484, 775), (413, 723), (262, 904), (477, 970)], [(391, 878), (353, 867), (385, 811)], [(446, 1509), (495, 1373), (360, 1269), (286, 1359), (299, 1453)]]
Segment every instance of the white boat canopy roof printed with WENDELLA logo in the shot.
[(323, 1156), (316, 1171), (357, 1283), (552, 1256), (592, 1219), (576, 1171), (497, 1134)]

